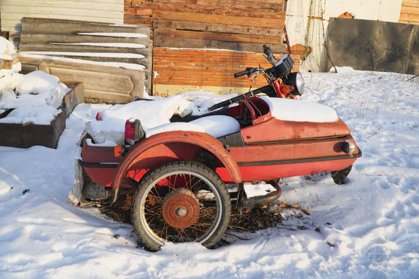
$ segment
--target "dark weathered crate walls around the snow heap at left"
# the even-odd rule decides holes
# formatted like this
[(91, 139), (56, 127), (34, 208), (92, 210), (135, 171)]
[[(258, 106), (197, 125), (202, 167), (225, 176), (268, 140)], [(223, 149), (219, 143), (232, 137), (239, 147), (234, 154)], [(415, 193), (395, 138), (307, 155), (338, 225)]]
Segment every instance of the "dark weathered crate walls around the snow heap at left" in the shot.
[[(62, 112), (55, 116), (49, 125), (33, 123), (0, 123), (0, 145), (12, 146), (17, 148), (29, 148), (31, 146), (47, 146), (57, 148), (58, 139), (66, 129), (66, 116), (71, 114), (74, 107), (83, 103), (83, 83), (66, 83), (71, 91), (64, 96), (60, 109)], [(8, 109), (0, 118), (4, 118), (13, 109)]]

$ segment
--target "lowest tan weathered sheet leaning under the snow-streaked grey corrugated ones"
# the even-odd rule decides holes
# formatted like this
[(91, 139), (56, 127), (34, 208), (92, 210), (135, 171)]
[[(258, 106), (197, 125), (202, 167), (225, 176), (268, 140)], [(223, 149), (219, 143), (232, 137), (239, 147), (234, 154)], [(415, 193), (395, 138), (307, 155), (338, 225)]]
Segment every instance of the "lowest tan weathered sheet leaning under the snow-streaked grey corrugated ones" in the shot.
[(144, 94), (144, 70), (131, 70), (110, 66), (99, 66), (41, 59), (21, 55), (24, 70), (43, 70), (62, 81), (84, 83), (85, 98), (97, 98), (108, 103), (126, 103)]

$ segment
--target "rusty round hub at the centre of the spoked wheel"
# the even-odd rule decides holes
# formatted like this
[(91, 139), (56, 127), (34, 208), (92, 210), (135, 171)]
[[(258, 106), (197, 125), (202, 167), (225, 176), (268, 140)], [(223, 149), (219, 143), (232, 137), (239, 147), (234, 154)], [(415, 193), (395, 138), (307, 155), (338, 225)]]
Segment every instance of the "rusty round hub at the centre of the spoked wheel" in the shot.
[(188, 228), (198, 220), (199, 202), (192, 191), (185, 188), (168, 192), (163, 200), (164, 220), (174, 228)]

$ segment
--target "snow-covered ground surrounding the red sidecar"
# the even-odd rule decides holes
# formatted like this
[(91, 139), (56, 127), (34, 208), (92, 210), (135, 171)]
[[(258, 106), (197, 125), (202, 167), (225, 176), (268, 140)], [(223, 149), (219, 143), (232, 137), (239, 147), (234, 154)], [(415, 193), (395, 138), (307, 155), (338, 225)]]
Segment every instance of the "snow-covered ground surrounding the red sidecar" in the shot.
[(0, 278), (419, 278), (418, 78), (338, 71), (305, 72), (301, 100), (351, 127), (364, 155), (348, 183), (283, 179), (279, 201), (310, 215), (216, 250), (147, 252), (131, 226), (67, 202), (79, 135), (107, 105), (77, 106), (57, 150), (0, 147)]

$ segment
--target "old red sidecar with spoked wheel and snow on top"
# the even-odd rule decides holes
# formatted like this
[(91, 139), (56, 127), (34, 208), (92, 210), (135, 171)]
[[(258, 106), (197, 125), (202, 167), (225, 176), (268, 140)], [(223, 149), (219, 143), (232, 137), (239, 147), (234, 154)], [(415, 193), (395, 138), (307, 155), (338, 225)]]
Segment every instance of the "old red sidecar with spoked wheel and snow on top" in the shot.
[[(229, 224), (231, 200), (244, 209), (275, 200), (283, 177), (332, 172), (340, 184), (361, 157), (350, 129), (320, 104), (252, 97), (171, 122), (203, 131), (174, 125), (183, 129), (147, 136), (140, 121), (127, 120), (122, 144), (97, 144), (88, 133), (79, 142), (81, 198), (116, 202), (131, 193), (131, 222), (151, 250), (165, 241), (211, 247)], [(249, 181), (266, 181), (276, 191), (246, 198), (243, 183)], [(237, 191), (229, 193), (226, 185)]]

